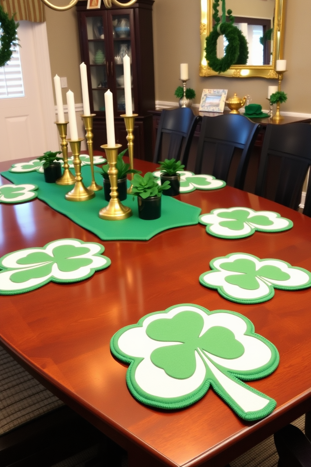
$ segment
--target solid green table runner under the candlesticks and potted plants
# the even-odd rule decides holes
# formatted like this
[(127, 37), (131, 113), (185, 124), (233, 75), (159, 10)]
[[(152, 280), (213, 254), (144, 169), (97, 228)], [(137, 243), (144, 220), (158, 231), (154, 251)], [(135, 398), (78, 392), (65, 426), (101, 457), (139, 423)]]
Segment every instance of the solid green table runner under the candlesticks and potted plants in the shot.
[[(85, 165), (81, 169), (83, 183), (89, 186), (91, 183), (90, 166)], [(162, 196), (161, 217), (155, 220), (143, 220), (138, 218), (138, 205), (136, 197), (128, 196), (122, 203), (129, 206), (133, 215), (128, 219), (111, 221), (103, 220), (98, 216), (100, 209), (108, 204), (104, 199), (104, 190), (96, 191), (95, 198), (89, 201), (67, 201), (65, 194), (72, 186), (46, 183), (41, 173), (32, 171), (29, 173), (2, 172), (1, 175), (14, 183), (25, 181), (38, 185), (38, 198), (45, 201), (55, 211), (61, 212), (79, 226), (95, 233), (102, 240), (149, 240), (163, 230), (198, 224), (200, 208), (183, 203), (170, 196)], [(95, 171), (95, 179), (98, 184), (103, 183), (103, 178)]]

